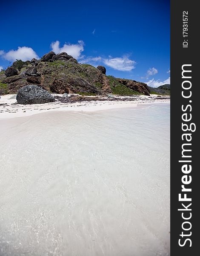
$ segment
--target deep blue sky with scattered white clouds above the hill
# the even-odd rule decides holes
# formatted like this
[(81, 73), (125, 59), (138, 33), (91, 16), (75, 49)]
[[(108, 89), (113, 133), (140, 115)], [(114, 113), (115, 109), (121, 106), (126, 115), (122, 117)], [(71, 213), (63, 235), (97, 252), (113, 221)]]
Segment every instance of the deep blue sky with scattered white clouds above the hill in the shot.
[(106, 74), (170, 83), (170, 1), (4, 1), (0, 67), (66, 51)]

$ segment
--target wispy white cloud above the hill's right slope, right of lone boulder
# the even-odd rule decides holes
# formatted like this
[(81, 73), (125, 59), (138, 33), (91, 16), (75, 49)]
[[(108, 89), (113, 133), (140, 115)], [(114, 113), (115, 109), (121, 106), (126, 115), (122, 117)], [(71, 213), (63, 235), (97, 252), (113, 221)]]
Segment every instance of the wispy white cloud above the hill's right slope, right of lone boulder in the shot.
[(103, 59), (103, 63), (106, 64), (108, 67), (112, 67), (115, 70), (120, 71), (131, 71), (135, 68), (134, 64), (136, 64), (135, 61), (130, 60), (127, 56), (117, 58), (112, 58), (111, 56), (109, 56), (109, 58)]

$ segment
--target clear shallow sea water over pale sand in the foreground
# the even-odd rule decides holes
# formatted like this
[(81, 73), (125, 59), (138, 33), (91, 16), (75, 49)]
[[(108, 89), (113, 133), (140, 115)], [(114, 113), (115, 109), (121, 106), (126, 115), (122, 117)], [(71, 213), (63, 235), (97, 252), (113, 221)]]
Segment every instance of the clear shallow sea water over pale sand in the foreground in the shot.
[(1, 120), (0, 256), (170, 255), (170, 105)]

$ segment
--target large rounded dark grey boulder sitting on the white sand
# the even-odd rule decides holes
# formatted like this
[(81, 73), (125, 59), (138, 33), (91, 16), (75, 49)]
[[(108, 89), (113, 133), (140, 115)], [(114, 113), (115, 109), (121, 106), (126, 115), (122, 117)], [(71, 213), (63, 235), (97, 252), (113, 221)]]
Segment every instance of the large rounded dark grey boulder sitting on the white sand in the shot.
[(18, 104), (41, 104), (47, 102), (54, 102), (54, 97), (43, 88), (37, 85), (26, 85), (17, 92)]

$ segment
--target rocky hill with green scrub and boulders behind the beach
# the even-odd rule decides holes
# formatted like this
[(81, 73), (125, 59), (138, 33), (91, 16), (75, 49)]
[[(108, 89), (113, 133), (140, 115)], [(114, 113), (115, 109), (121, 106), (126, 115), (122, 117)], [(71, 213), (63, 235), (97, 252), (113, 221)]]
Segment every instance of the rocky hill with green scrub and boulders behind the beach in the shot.
[(0, 72), (0, 94), (17, 93), (27, 84), (39, 85), (51, 93), (81, 95), (149, 95), (147, 84), (106, 76), (106, 68), (80, 64), (66, 52), (49, 52), (40, 60), (16, 60)]

